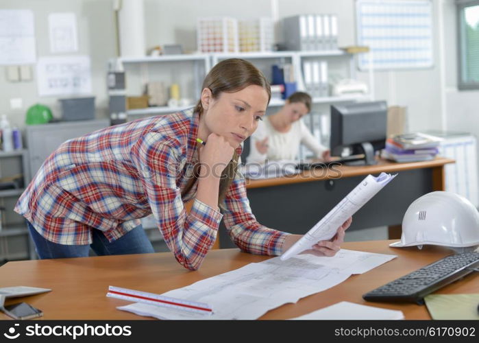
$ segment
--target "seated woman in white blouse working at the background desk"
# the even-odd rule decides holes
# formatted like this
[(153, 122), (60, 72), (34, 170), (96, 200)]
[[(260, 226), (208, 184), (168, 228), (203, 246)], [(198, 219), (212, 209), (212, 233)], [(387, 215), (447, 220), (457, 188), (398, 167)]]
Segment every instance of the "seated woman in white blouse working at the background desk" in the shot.
[(319, 143), (300, 120), (310, 110), (311, 97), (307, 93), (296, 92), (290, 95), (281, 110), (259, 123), (258, 129), (251, 136), (247, 163), (297, 160), (301, 143), (319, 160), (329, 161), (329, 150)]

